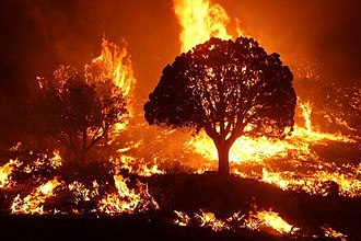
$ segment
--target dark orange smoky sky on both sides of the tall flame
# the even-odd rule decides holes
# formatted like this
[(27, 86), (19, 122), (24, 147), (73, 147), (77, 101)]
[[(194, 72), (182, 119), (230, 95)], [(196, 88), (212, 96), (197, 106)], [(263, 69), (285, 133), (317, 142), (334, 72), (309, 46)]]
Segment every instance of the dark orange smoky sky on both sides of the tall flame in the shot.
[[(361, 78), (361, 1), (213, 0), (287, 65), (317, 60), (329, 81)], [(172, 0), (0, 1), (0, 96), (7, 100), (58, 65), (80, 68), (102, 36), (129, 43), (138, 90), (147, 96), (179, 54)], [(1, 101), (0, 99), (0, 101)]]

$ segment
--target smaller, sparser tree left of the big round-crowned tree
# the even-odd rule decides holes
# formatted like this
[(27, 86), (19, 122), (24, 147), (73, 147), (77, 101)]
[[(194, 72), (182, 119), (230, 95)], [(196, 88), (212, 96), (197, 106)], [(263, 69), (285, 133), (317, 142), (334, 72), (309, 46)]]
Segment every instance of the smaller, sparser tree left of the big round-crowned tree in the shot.
[(54, 79), (39, 83), (44, 116), (39, 124), (79, 162), (128, 113), (120, 89), (110, 80), (88, 77), (60, 67)]

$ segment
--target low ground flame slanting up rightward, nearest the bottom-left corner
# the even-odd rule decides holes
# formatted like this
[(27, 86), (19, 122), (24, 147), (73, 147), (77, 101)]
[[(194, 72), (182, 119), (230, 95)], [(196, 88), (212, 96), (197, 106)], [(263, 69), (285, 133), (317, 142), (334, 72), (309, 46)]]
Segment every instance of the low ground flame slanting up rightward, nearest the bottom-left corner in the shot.
[(31, 194), (22, 198), (20, 194), (15, 197), (11, 205), (12, 214), (47, 214), (44, 211), (44, 204), (46, 199), (54, 195), (54, 190), (59, 186), (61, 182), (58, 176), (47, 183), (36, 187)]

